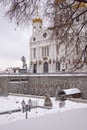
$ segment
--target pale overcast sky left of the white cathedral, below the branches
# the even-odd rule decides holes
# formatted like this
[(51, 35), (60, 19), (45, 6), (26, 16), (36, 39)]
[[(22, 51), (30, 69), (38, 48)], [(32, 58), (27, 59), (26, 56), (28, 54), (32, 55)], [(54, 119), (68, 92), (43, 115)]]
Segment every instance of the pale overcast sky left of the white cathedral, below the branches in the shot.
[(0, 70), (7, 67), (22, 67), (21, 57), (29, 65), (29, 39), (32, 28), (18, 27), (0, 13)]

